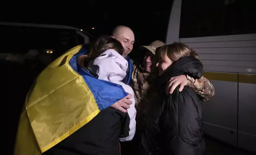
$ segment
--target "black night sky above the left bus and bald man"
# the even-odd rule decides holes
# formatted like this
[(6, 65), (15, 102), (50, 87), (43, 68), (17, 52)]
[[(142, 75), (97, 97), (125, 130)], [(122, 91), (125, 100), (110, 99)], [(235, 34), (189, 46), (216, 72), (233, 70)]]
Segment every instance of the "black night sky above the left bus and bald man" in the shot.
[(136, 42), (131, 55), (136, 55), (139, 45), (147, 45), (154, 40), (165, 42), (171, 4), (172, 1), (164, 3), (163, 0), (140, 4), (97, 0), (72, 4), (69, 1), (58, 6), (37, 4), (33, 7), (17, 4), (12, 6), (12, 11), (0, 12), (6, 14), (0, 17), (0, 21), (70, 25), (96, 37), (111, 34), (117, 25), (126, 25), (134, 31)]

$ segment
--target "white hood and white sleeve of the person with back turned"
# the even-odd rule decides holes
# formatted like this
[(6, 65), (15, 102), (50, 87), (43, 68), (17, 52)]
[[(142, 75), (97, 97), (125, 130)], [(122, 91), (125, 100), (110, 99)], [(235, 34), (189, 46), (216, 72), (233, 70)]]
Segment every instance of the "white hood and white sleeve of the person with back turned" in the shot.
[(130, 105), (130, 108), (127, 109), (128, 115), (130, 117), (129, 136), (125, 138), (119, 138), (120, 141), (132, 140), (136, 130), (134, 92), (129, 85), (120, 82), (126, 76), (126, 70), (128, 69), (127, 60), (124, 59), (124, 57), (122, 57), (122, 55), (120, 55), (114, 49), (109, 49), (96, 59), (89, 61), (87, 68), (93, 74), (97, 74), (99, 76), (98, 79), (122, 85), (124, 91), (133, 96), (130, 99), (132, 104)]

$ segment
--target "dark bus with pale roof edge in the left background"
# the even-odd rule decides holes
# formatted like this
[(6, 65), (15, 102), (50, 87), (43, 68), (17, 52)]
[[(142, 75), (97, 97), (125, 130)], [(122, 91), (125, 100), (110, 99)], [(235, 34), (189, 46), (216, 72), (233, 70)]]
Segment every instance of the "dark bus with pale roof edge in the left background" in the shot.
[(29, 49), (37, 49), (46, 66), (69, 49), (94, 39), (72, 26), (32, 23), (0, 22), (0, 34), (0, 53), (25, 54)]

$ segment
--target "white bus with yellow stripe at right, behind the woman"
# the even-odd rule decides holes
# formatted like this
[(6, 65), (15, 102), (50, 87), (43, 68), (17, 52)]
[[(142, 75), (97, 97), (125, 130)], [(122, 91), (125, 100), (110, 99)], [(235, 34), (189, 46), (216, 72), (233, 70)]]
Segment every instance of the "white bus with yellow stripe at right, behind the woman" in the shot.
[(202, 102), (205, 133), (256, 153), (255, 1), (173, 0), (167, 44), (195, 49), (215, 96)]

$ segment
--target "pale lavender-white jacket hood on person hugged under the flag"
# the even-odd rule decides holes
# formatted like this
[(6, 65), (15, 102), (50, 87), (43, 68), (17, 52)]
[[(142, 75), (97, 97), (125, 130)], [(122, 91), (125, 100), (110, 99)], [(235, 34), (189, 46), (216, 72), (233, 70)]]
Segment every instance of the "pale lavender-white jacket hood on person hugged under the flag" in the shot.
[(114, 49), (108, 49), (96, 59), (90, 60), (87, 69), (105, 81), (122, 81), (126, 76), (128, 62)]

